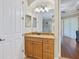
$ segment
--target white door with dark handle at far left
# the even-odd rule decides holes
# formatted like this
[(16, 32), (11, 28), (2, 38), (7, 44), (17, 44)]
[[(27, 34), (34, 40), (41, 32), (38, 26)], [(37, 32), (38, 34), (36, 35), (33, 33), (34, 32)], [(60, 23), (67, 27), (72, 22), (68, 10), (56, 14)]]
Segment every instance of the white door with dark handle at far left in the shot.
[(22, 59), (21, 0), (0, 0), (0, 59)]

